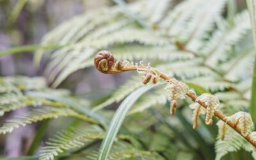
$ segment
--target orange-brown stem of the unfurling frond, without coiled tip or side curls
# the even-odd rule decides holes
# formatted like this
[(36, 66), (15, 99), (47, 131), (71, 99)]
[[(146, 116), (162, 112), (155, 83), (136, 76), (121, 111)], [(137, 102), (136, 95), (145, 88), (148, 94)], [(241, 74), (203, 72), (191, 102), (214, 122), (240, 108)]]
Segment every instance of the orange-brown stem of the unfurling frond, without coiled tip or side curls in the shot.
[[(97, 66), (97, 63), (95, 63), (95, 66)], [(116, 73), (125, 72), (125, 71), (130, 71), (130, 70), (131, 70), (131, 71), (132, 71), (132, 70), (137, 70), (138, 68), (141, 68), (141, 67), (145, 67), (145, 66), (144, 66), (144, 65), (131, 65), (131, 64), (130, 64), (128, 67), (123, 67), (123, 68), (121, 68), (120, 70), (116, 70), (115, 68), (112, 67), (112, 68), (110, 68), (109, 70), (104, 71), (103, 73), (104, 73), (104, 74), (116, 74)], [(150, 68), (148, 68), (148, 69), (150, 69)], [(164, 81), (167, 81), (167, 82), (168, 82), (168, 81), (172, 81), (172, 78), (169, 77), (168, 75), (164, 74), (163, 72), (160, 72), (160, 71), (157, 70), (157, 74), (159, 75), (159, 77), (161, 77), (162, 79), (164, 79)], [(207, 108), (207, 105), (206, 105), (202, 100), (196, 100), (198, 96), (195, 95), (195, 93), (193, 93), (193, 92), (191, 92), (191, 91), (188, 91), (188, 92), (186, 93), (186, 95), (187, 95), (188, 97), (190, 97), (190, 99), (193, 100), (194, 102), (196, 101), (196, 102), (198, 102), (201, 106), (203, 106), (204, 108)], [(227, 118), (225, 115), (223, 115), (223, 113), (221, 113), (221, 111), (218, 111), (218, 110), (214, 111), (214, 115), (217, 116), (218, 118), (220, 118), (220, 120), (222, 120), (223, 122), (225, 122), (227, 125), (229, 125), (230, 127), (232, 127), (232, 129), (234, 129), (236, 132), (238, 132), (241, 136), (243, 136), (241, 129), (239, 129), (239, 127), (237, 127), (237, 125), (236, 125), (234, 122), (228, 120), (228, 118)], [(247, 140), (249, 143), (251, 143), (254, 147), (256, 147), (256, 141), (254, 141), (253, 138), (252, 138), (250, 135), (248, 135), (248, 136), (243, 136), (243, 138), (244, 138), (245, 140)]]

